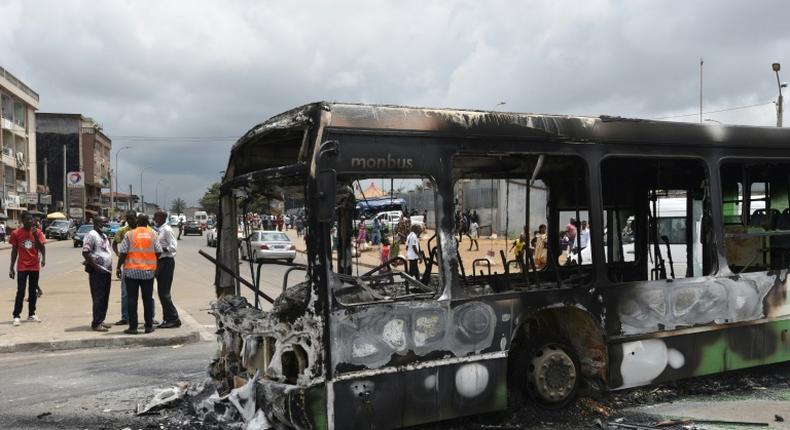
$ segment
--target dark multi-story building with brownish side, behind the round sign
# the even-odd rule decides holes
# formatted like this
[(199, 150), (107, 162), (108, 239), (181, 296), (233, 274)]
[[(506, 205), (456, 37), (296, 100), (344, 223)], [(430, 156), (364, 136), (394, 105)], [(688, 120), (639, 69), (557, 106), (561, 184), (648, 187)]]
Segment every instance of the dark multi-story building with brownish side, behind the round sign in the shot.
[[(72, 218), (107, 213), (102, 188), (110, 188), (112, 141), (96, 121), (81, 114), (37, 113), (36, 145), (38, 180), (49, 186), (56, 207)], [(68, 172), (82, 172), (83, 185), (67, 187)]]

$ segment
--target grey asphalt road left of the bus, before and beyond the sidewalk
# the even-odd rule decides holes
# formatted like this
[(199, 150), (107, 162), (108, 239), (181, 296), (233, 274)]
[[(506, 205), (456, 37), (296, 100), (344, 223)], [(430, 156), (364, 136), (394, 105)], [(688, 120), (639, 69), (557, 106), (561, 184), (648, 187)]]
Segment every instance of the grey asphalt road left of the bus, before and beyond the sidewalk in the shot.
[[(175, 304), (197, 320), (207, 333), (213, 333), (215, 321), (208, 309), (215, 298), (214, 266), (198, 250), (213, 254), (215, 248), (206, 247), (205, 236), (182, 237), (178, 244), (173, 284)], [(0, 251), (0, 261), (7, 264), (9, 257), (10, 250)], [(65, 273), (83, 270), (81, 261), (81, 251), (73, 247), (72, 241), (50, 240), (47, 265), (40, 279), (45, 296), (48, 284), (63, 282)], [(300, 261), (304, 261), (301, 255), (297, 258)], [(276, 297), (282, 290), (285, 270), (285, 266), (278, 265), (267, 265), (262, 270), (261, 286), (270, 296)], [(246, 262), (242, 273), (249, 278)], [(298, 282), (299, 273), (291, 276), (291, 284)], [(0, 288), (16, 288), (15, 281), (7, 275), (2, 279)], [(117, 282), (113, 286), (116, 292)], [(244, 295), (252, 298), (249, 291)], [(270, 306), (264, 302), (263, 307)], [(10, 311), (8, 308), (9, 315)], [(161, 315), (158, 303), (157, 315)], [(201, 342), (178, 348), (0, 355), (0, 429), (146, 428), (151, 418), (135, 417), (137, 403), (150, 400), (156, 389), (183, 380), (203, 379), (214, 349), (214, 342)], [(38, 418), (41, 414), (51, 415)]]

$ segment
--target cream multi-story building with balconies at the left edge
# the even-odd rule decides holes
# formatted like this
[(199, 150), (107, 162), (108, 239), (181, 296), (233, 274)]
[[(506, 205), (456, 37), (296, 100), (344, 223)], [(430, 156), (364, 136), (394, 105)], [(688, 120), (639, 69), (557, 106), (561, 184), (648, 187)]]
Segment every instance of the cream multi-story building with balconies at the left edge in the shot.
[(38, 94), (0, 67), (0, 148), (3, 214), (16, 227), (24, 210), (39, 202), (36, 178), (35, 112)]

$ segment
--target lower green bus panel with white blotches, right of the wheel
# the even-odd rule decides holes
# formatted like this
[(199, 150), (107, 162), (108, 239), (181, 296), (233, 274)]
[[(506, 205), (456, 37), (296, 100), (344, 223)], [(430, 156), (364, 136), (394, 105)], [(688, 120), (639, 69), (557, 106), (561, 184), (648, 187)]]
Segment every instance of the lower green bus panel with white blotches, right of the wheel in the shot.
[(790, 319), (744, 323), (610, 345), (611, 387), (622, 389), (790, 360)]

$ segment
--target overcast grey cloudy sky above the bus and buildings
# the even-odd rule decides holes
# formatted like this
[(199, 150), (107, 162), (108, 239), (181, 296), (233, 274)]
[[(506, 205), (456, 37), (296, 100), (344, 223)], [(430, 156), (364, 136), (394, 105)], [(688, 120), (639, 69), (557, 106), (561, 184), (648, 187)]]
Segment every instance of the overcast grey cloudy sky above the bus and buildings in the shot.
[[(0, 0), (0, 66), (119, 183), (195, 204), (235, 139), (328, 100), (775, 126), (790, 2)], [(742, 108), (744, 106), (751, 106)], [(786, 121), (790, 122), (790, 120)]]

